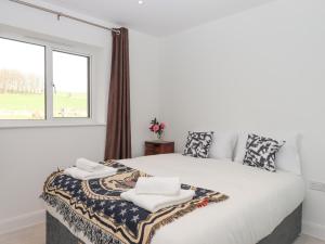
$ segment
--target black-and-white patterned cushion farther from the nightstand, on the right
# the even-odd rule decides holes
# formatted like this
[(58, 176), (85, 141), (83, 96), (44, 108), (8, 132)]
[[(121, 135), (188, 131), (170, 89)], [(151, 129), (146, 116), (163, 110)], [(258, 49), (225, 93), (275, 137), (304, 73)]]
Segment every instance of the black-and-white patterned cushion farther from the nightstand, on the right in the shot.
[(248, 134), (244, 165), (275, 172), (275, 156), (284, 144), (285, 141), (278, 142), (271, 138)]

